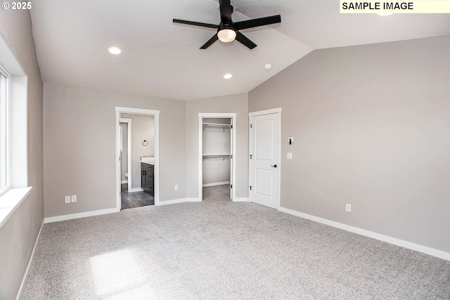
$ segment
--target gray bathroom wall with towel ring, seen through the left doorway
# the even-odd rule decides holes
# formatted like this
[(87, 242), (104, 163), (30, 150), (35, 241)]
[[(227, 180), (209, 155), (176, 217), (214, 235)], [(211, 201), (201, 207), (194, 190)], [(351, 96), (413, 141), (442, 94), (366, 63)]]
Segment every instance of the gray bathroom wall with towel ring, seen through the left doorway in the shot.
[[(132, 188), (141, 188), (141, 162), (139, 157), (155, 155), (155, 117), (129, 114), (122, 114), (121, 117), (133, 119), (131, 123)], [(148, 145), (142, 145), (144, 140), (148, 141)]]

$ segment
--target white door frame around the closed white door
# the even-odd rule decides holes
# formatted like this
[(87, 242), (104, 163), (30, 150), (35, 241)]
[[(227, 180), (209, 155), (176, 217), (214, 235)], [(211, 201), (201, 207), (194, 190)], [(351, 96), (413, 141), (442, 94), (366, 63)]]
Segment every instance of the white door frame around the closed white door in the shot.
[[(252, 117), (262, 116), (262, 115), (273, 115), (278, 114), (278, 195), (276, 200), (276, 209), (280, 209), (280, 195), (281, 195), (281, 107), (271, 108), (269, 110), (259, 110), (257, 112), (248, 113), (248, 184), (249, 188), (252, 184), (252, 159), (250, 155), (252, 154)], [(248, 201), (252, 202), (252, 193), (248, 191)]]

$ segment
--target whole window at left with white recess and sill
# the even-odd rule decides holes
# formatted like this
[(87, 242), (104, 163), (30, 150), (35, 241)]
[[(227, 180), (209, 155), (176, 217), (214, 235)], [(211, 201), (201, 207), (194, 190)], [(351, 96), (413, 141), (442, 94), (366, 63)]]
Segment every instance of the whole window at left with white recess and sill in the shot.
[(28, 79), (0, 32), (0, 228), (30, 195)]

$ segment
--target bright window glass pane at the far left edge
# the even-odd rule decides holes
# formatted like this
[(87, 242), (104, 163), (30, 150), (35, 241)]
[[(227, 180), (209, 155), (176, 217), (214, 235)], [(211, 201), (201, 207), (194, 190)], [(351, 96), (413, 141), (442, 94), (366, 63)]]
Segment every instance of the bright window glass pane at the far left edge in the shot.
[(9, 74), (0, 65), (0, 195), (10, 188)]

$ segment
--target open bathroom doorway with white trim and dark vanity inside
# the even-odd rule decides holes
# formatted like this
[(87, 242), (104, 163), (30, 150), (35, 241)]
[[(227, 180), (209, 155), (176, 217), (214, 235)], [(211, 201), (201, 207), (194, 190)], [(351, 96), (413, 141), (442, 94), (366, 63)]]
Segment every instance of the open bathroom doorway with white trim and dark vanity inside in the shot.
[[(159, 110), (115, 107), (117, 209), (159, 204)], [(122, 172), (124, 124), (127, 124), (127, 180)], [(131, 126), (132, 125), (132, 126)], [(123, 126), (123, 127), (122, 127)], [(122, 129), (122, 130), (121, 130)], [(151, 168), (152, 189), (143, 191), (142, 168)], [(148, 172), (150, 174), (150, 172)], [(127, 200), (127, 201), (123, 201)], [(150, 203), (151, 202), (151, 203)]]

